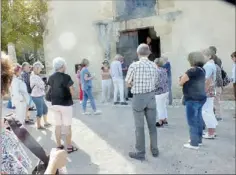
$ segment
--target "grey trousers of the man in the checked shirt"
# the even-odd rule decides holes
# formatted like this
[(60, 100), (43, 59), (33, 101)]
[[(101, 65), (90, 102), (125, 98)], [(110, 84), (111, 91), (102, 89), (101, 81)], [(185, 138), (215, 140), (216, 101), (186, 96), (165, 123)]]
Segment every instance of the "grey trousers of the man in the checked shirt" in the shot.
[(144, 117), (146, 118), (152, 153), (157, 153), (156, 100), (155, 93), (134, 94), (132, 109), (135, 123), (136, 149), (145, 154)]

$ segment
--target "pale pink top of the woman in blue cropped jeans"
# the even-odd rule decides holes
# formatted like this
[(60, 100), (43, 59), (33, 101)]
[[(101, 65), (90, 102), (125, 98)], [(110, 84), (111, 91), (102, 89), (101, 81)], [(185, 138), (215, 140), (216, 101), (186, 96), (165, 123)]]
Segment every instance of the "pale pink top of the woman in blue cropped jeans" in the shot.
[(32, 97), (45, 96), (45, 83), (42, 78), (34, 73), (30, 76), (30, 87), (32, 89)]

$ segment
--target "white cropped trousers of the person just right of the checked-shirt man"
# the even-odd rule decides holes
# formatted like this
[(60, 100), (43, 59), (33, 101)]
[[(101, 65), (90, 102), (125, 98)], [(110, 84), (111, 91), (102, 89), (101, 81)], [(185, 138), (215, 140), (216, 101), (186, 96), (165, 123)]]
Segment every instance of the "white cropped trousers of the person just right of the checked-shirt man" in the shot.
[(168, 118), (168, 115), (167, 115), (168, 95), (169, 95), (169, 92), (155, 96), (158, 120), (164, 120)]

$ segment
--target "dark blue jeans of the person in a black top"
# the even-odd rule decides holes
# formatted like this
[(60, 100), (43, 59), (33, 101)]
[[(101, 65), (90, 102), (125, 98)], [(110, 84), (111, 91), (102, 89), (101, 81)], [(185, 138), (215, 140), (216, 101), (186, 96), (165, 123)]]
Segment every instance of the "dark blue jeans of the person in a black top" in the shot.
[(203, 134), (203, 118), (202, 118), (202, 106), (205, 101), (186, 101), (186, 116), (189, 125), (190, 144), (192, 146), (198, 146), (202, 143)]

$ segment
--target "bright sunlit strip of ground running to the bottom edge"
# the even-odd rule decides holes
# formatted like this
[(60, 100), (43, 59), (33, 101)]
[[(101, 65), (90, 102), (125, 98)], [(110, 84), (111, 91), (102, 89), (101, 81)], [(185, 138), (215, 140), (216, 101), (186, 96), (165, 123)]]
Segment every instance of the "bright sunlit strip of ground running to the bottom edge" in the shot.
[[(122, 155), (79, 119), (73, 118), (72, 123), (73, 142), (91, 157), (91, 162), (99, 165), (99, 173), (135, 173), (135, 165), (129, 160), (128, 155)], [(96, 127), (97, 130), (103, 126)]]

